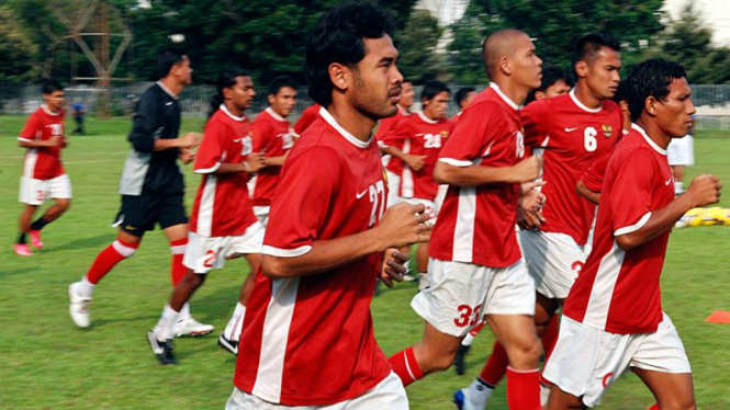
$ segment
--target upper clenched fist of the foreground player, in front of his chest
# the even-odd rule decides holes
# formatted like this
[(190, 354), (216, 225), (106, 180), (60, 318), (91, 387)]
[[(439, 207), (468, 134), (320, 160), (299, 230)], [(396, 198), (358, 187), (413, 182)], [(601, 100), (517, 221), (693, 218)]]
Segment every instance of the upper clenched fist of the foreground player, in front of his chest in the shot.
[(426, 224), (430, 216), (424, 213), (423, 204), (397, 204), (385, 210), (378, 230), (379, 240), (383, 241), (382, 249), (403, 248), (413, 243), (427, 242), (430, 239), (433, 227)]

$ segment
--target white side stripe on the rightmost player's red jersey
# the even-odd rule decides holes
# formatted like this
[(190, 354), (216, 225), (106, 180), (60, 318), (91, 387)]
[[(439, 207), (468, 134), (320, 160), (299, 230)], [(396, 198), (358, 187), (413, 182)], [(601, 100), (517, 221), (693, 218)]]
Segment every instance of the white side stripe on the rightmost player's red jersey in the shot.
[(626, 252), (614, 241), (614, 249), (600, 260), (596, 278), (591, 288), (591, 298), (585, 308), (583, 323), (596, 329), (605, 330), (608, 320), (608, 309), (614, 296), (614, 289), (621, 272)]

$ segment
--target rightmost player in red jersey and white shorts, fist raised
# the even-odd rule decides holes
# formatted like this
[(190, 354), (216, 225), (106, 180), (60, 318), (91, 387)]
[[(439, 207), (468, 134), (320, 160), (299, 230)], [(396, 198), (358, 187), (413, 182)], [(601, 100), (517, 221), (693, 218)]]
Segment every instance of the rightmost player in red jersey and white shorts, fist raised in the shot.
[(687, 134), (695, 113), (685, 69), (651, 59), (626, 81), (634, 124), (608, 162), (594, 249), (546, 365), (554, 384), (550, 410), (598, 405), (628, 367), (656, 398), (652, 409), (696, 408), (687, 355), (662, 311), (660, 275), (674, 224), (693, 207), (717, 203), (721, 185), (701, 175), (674, 195), (666, 147)]

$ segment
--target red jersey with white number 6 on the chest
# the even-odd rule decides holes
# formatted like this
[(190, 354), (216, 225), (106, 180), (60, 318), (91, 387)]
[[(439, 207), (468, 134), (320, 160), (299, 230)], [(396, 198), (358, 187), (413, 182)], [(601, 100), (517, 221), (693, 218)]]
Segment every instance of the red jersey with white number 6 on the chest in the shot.
[(575, 185), (594, 162), (607, 157), (621, 135), (624, 115), (611, 100), (588, 109), (569, 94), (530, 103), (521, 111), (525, 145), (540, 148), (544, 158), (542, 209), (546, 232), (569, 235), (585, 244), (596, 207), (575, 191)]

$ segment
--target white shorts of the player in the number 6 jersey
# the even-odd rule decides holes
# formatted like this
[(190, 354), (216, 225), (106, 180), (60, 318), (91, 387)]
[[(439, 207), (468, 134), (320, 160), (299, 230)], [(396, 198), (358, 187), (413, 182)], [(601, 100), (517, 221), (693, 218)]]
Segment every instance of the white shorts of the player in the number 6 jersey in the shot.
[(520, 230), (527, 271), (535, 289), (551, 299), (564, 299), (585, 264), (586, 254), (570, 235)]

